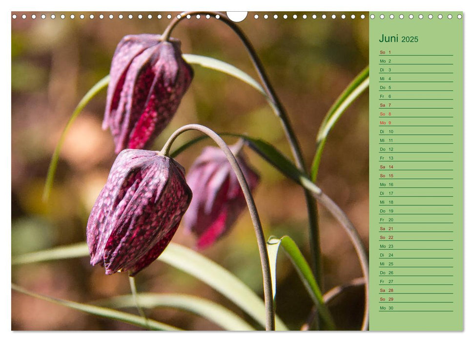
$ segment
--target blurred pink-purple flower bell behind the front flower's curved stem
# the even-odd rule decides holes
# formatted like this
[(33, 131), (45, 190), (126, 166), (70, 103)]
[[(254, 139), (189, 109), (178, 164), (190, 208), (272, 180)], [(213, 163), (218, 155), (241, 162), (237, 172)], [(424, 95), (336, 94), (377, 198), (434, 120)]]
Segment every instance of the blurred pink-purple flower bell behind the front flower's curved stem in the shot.
[[(259, 175), (247, 165), (241, 144), (231, 146), (230, 150), (253, 191)], [(193, 199), (183, 223), (187, 231), (197, 235), (196, 247), (203, 249), (229, 232), (247, 204), (237, 176), (219, 148), (206, 147), (191, 166), (186, 180)]]

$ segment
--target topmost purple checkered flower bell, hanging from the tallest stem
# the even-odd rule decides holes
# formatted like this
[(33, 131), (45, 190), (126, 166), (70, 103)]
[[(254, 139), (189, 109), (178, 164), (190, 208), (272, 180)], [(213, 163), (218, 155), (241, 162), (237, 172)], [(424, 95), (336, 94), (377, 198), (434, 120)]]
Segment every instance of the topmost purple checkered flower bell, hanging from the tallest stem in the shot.
[(115, 50), (102, 128), (115, 153), (143, 149), (168, 125), (193, 78), (181, 42), (160, 35), (125, 36)]

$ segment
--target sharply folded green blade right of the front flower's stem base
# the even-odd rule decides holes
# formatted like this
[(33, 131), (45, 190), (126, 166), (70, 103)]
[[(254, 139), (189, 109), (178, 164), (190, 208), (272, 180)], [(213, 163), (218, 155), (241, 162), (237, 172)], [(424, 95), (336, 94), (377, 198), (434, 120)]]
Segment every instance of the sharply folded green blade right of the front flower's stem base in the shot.
[(332, 320), (331, 314), (324, 303), (323, 295), (319, 289), (318, 283), (311, 272), (308, 262), (299, 250), (296, 243), (289, 236), (283, 236), (281, 239), (270, 237), (268, 239), (267, 245), (268, 257), (270, 259), (273, 296), (276, 294), (276, 259), (278, 256), (278, 250), (281, 246), (291, 260), (299, 277), (303, 281), (303, 284), (308, 290), (309, 296), (313, 300), (314, 304), (316, 304), (318, 307), (322, 320), (326, 323), (330, 330), (334, 330), (334, 321)]

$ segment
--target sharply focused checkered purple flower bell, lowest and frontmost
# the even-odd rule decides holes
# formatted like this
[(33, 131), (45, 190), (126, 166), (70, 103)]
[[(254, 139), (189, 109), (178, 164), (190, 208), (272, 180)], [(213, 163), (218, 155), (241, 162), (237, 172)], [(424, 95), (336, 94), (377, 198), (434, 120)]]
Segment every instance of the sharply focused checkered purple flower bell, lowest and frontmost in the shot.
[(137, 274), (163, 252), (192, 192), (183, 167), (147, 150), (123, 150), (110, 170), (87, 222), (91, 265), (105, 274)]

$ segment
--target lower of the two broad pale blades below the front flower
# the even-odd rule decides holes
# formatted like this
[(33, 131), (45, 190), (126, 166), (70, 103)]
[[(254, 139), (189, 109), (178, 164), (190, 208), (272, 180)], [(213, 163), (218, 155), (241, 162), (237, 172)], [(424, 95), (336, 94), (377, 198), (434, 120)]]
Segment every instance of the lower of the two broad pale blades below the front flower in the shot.
[[(168, 307), (192, 312), (206, 318), (226, 330), (249, 331), (255, 330), (250, 324), (241, 319), (227, 308), (213, 301), (184, 294), (155, 294), (139, 293), (137, 301), (143, 308)], [(119, 296), (94, 302), (99, 306), (114, 309), (131, 308), (135, 306), (133, 296)]]

